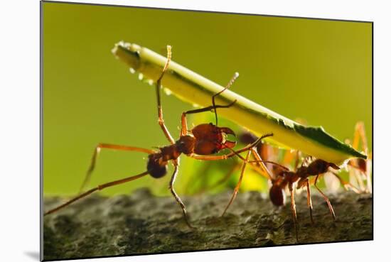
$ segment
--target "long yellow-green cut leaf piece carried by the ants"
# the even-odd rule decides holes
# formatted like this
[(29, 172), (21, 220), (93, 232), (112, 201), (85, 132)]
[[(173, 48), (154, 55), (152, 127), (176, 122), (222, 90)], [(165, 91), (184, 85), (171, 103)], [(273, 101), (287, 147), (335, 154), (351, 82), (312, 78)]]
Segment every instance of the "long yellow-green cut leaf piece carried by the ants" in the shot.
[[(149, 84), (156, 82), (166, 62), (164, 56), (148, 48), (122, 41), (114, 46), (112, 53), (125, 62), (131, 72), (142, 74), (141, 79)], [(198, 107), (210, 106), (213, 94), (224, 88), (173, 61), (162, 84), (176, 97)], [(336, 164), (344, 163), (349, 158), (367, 158), (348, 144), (338, 141), (321, 126), (303, 126), (231, 90), (225, 90), (216, 102), (228, 104), (235, 99), (237, 102), (232, 107), (219, 109), (219, 116), (234, 121), (257, 136), (273, 133), (274, 136), (267, 140), (278, 146), (294, 148)]]

